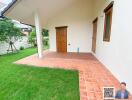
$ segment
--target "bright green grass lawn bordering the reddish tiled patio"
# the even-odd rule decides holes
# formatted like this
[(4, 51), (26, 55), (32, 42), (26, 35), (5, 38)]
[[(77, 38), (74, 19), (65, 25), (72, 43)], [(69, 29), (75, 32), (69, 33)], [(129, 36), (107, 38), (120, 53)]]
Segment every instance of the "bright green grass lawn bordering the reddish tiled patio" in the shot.
[(0, 56), (0, 100), (79, 100), (77, 71), (13, 64), (34, 53)]

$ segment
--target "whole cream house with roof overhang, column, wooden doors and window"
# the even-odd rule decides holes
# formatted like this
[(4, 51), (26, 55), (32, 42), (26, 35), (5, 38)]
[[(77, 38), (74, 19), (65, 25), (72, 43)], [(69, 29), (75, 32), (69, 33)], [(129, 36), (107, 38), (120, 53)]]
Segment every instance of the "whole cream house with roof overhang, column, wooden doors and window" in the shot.
[(50, 50), (91, 52), (132, 92), (131, 0), (14, 0), (3, 16), (49, 29)]

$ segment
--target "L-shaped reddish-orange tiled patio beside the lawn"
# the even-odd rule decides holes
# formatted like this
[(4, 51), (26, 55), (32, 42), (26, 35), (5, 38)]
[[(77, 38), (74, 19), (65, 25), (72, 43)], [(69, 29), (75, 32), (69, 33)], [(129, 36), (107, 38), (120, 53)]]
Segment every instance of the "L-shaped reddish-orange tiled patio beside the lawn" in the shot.
[(78, 70), (80, 100), (103, 100), (104, 86), (119, 88), (119, 81), (90, 53), (61, 54), (47, 51), (43, 59), (38, 59), (35, 54), (16, 63)]

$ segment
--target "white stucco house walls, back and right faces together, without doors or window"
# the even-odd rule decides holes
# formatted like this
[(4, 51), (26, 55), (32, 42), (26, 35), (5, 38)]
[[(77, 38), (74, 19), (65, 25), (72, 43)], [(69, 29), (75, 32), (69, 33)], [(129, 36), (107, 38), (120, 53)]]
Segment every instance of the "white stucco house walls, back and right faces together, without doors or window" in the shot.
[(132, 39), (130, 0), (115, 0), (110, 42), (103, 42), (104, 9), (112, 0), (79, 0), (50, 19), (50, 50), (56, 51), (57, 26), (68, 26), (68, 52), (91, 52), (92, 21), (98, 17), (95, 56), (132, 92)]

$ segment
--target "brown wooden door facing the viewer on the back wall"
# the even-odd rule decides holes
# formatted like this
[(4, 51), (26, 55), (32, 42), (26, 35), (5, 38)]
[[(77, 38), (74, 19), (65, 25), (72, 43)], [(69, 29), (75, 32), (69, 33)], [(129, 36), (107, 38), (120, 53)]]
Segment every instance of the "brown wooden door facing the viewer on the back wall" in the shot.
[(56, 49), (57, 52), (67, 52), (67, 26), (56, 27)]

